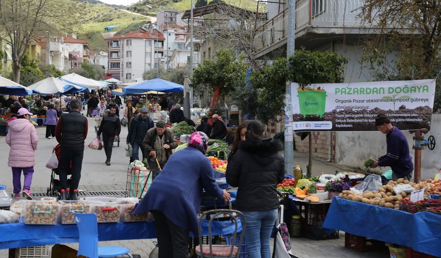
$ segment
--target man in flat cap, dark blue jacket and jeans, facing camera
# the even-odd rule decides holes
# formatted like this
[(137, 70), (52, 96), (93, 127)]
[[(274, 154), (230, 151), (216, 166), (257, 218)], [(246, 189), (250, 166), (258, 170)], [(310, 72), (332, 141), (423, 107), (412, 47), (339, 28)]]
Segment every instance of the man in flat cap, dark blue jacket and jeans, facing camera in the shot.
[[(131, 144), (133, 147), (132, 157), (130, 157), (130, 162), (139, 159), (139, 147), (141, 147), (141, 153), (143, 154), (143, 160), (147, 158), (144, 153), (143, 140), (146, 137), (147, 131), (153, 128), (153, 119), (149, 117), (149, 110), (147, 107), (141, 109), (140, 115), (133, 118), (130, 124), (129, 134), (127, 135), (127, 145)], [(141, 160), (142, 161), (142, 160)]]

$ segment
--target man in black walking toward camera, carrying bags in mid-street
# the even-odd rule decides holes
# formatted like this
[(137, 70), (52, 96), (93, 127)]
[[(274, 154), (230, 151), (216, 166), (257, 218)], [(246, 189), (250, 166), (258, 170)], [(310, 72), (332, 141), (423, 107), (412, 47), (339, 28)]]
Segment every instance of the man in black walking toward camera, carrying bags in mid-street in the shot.
[(103, 117), (101, 124), (99, 124), (98, 133), (96, 135), (96, 138), (99, 138), (99, 135), (103, 133), (104, 152), (106, 153), (107, 157), (105, 163), (108, 166), (110, 166), (110, 158), (112, 157), (113, 141), (119, 137), (119, 133), (121, 132), (121, 122), (115, 113), (116, 107), (110, 107), (110, 113)]

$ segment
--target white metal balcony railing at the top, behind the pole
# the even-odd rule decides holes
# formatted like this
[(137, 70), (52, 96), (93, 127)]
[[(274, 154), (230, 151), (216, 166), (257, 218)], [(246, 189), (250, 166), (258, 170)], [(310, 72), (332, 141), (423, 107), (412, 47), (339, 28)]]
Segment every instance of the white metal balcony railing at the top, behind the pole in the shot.
[[(360, 7), (363, 5), (363, 0), (298, 0), (295, 8), (296, 33), (310, 25), (333, 28), (371, 27), (372, 23), (365, 22), (360, 17)], [(255, 53), (286, 39), (288, 29), (288, 9), (285, 9), (256, 29)]]

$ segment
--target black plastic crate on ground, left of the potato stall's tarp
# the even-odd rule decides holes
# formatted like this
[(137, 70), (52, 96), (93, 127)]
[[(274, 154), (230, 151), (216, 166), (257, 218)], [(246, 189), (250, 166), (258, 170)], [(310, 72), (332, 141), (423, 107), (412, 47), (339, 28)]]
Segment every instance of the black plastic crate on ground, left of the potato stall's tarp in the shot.
[(305, 217), (303, 220), (303, 236), (305, 238), (314, 240), (326, 240), (338, 239), (340, 237), (340, 233), (338, 232), (338, 230), (334, 230), (330, 234), (328, 234), (325, 229), (322, 228), (330, 205), (330, 203), (304, 203)]

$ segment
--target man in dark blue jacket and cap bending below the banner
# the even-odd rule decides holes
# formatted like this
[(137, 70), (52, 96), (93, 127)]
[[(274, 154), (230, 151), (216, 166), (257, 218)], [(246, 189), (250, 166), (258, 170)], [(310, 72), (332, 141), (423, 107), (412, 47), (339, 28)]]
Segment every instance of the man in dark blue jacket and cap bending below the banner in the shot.
[(375, 160), (372, 168), (377, 166), (390, 166), (392, 180), (399, 178), (412, 179), (413, 163), (409, 153), (409, 144), (404, 134), (397, 127), (392, 126), (389, 117), (379, 114), (375, 118), (378, 131), (386, 135), (387, 154)]

